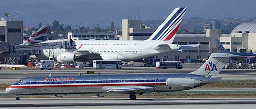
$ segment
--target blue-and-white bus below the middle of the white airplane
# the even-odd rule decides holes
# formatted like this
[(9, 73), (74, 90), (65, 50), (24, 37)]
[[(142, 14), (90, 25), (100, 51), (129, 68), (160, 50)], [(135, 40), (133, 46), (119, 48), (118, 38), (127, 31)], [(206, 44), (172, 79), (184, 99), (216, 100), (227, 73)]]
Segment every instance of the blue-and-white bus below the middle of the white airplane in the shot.
[(93, 68), (96, 69), (121, 69), (122, 61), (120, 60), (93, 60)]

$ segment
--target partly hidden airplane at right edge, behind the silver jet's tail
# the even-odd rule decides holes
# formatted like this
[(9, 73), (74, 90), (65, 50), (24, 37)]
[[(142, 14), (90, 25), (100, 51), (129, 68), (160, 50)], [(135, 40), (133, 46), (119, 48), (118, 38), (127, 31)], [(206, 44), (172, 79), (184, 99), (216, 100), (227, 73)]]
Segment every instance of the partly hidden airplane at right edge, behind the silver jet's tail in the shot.
[(237, 57), (233, 57), (233, 58), (231, 58), (231, 60), (247, 60), (247, 59), (255, 58), (255, 56), (256, 56), (255, 52), (230, 52), (219, 42), (219, 40), (217, 38), (215, 39), (215, 44), (217, 47), (217, 52), (231, 53), (233, 55), (237, 55)]

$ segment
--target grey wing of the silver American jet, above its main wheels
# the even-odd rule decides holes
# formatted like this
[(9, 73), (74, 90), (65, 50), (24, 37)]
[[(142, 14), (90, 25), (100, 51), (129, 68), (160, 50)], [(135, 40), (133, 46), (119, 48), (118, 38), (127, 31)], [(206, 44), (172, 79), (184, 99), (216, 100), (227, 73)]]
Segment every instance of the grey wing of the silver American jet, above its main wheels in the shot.
[(153, 87), (148, 86), (105, 86), (102, 88), (106, 93), (145, 93), (154, 91)]

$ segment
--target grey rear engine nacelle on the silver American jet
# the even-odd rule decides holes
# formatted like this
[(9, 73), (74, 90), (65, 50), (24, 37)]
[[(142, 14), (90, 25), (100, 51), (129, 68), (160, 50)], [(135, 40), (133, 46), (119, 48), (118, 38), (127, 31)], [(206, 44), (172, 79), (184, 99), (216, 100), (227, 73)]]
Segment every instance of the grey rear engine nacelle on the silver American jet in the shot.
[(195, 80), (190, 78), (167, 78), (166, 85), (168, 87), (188, 88), (195, 86)]

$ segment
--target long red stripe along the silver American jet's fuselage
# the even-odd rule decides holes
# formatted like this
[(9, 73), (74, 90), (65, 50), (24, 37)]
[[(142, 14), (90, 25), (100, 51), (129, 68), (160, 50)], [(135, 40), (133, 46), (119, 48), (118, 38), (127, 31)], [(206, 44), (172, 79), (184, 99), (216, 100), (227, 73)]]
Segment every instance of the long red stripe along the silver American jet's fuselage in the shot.
[[(166, 85), (166, 83), (144, 83), (144, 84), (86, 84), (86, 85), (44, 85), (44, 86), (31, 86), (31, 88), (40, 87), (90, 87), (90, 86), (145, 86), (145, 85)], [(30, 86), (9, 86), (8, 88), (30, 88)]]

